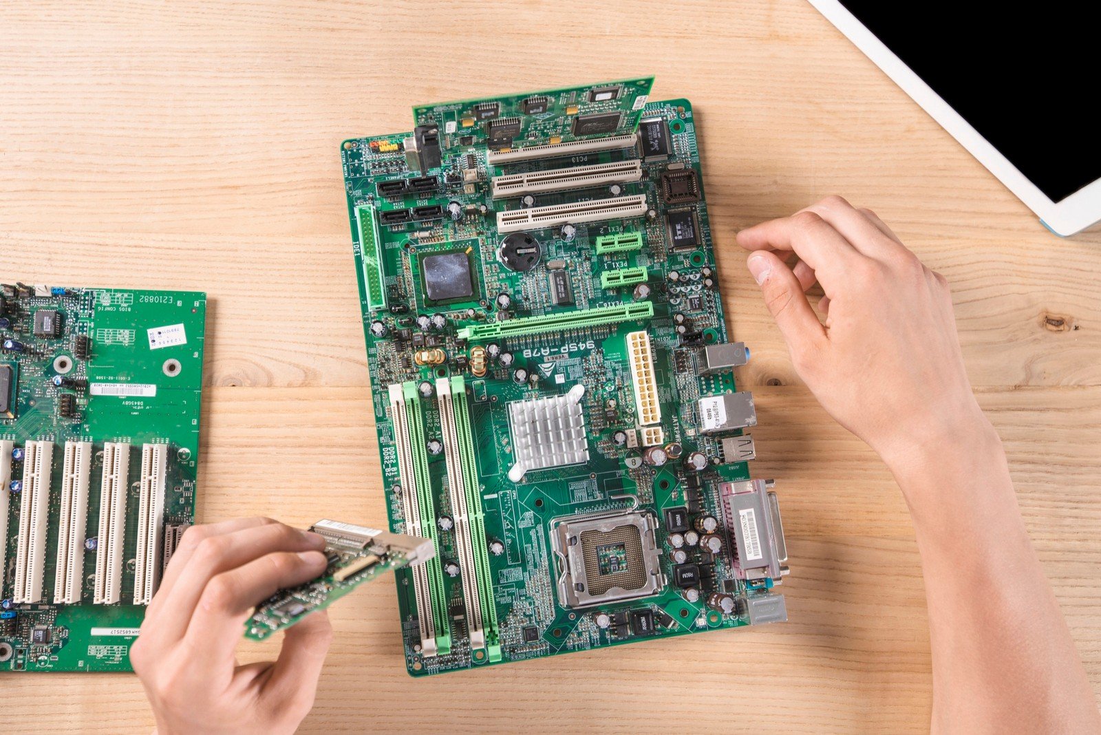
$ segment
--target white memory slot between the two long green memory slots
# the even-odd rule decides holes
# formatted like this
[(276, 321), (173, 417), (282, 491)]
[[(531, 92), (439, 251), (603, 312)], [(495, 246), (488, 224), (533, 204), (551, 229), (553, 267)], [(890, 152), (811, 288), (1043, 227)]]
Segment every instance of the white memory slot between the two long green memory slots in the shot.
[(459, 435), (455, 426), (455, 399), (451, 396), (450, 381), (446, 377), (436, 381), (436, 403), (439, 406), (439, 424), (444, 430), (447, 487), (451, 496), (451, 512), (455, 513), (455, 545), (459, 552), (462, 596), (467, 604), (467, 628), (470, 632), (470, 648), (477, 650), (486, 647), (486, 630), (482, 619), (481, 595), (478, 592), (473, 538), (470, 534), (466, 474), (462, 471)]

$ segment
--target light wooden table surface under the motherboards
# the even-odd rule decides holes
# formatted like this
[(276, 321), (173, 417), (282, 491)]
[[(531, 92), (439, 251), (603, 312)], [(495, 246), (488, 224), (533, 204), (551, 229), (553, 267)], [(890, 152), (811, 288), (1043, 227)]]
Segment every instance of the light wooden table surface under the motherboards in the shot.
[[(385, 517), (342, 139), (407, 130), (415, 102), (646, 73), (655, 99), (693, 100), (727, 315), (753, 349), (739, 377), (760, 412), (755, 474), (784, 507), (791, 622), (413, 680), (381, 582), (334, 608), (303, 732), (927, 728), (906, 507), (795, 376), (734, 245), (831, 193), (951, 282), (968, 371), (1101, 699), (1101, 232), (1048, 233), (805, 2), (11, 0), (0, 41), (0, 281), (208, 294), (206, 522)], [(0, 722), (21, 729), (152, 724), (133, 677), (2, 688)]]

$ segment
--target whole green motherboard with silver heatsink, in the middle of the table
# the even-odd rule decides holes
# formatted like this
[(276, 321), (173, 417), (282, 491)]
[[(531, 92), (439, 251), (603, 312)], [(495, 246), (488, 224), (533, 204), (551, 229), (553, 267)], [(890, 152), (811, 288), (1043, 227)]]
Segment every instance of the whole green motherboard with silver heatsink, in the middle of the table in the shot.
[(414, 109), (341, 156), (410, 673), (786, 619), (691, 105)]

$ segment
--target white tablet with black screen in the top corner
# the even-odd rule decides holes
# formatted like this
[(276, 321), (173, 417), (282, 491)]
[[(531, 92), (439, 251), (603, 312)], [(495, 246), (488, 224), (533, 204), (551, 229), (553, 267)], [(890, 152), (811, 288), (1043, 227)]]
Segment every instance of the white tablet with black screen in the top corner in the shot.
[(1098, 3), (809, 2), (1048, 229), (1101, 221)]

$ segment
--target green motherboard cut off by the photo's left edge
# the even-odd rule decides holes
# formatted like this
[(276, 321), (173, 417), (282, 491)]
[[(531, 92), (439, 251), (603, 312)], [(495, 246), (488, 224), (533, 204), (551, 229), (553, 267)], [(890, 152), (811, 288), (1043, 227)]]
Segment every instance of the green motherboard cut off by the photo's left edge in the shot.
[(193, 520), (206, 295), (0, 286), (0, 671), (130, 671)]

